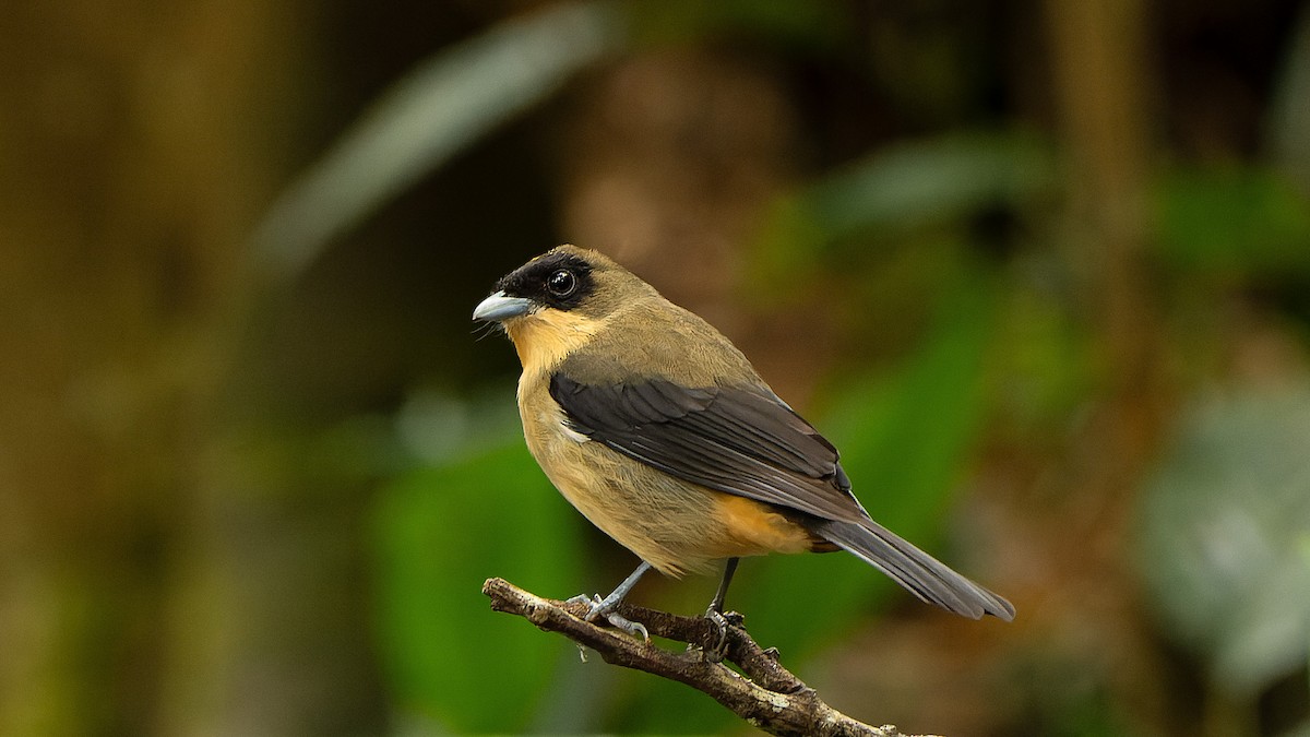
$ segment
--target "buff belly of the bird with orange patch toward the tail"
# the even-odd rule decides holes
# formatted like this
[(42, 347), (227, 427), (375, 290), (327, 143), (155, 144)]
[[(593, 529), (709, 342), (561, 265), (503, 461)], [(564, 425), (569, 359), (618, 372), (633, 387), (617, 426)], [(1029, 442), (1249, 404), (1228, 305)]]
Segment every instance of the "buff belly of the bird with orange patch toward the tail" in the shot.
[(804, 527), (768, 505), (683, 481), (553, 420), (524, 417), (542, 471), (592, 525), (662, 573), (706, 573), (724, 557), (811, 547)]

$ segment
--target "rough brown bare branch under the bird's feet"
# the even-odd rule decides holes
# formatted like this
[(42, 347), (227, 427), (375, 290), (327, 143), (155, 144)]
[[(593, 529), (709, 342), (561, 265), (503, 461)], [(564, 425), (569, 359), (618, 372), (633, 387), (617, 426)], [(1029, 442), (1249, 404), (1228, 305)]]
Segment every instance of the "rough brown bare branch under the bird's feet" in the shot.
[(719, 641), (718, 626), (703, 616), (620, 605), (620, 614), (645, 624), (651, 635), (692, 645), (685, 653), (673, 653), (584, 620), (586, 605), (544, 599), (504, 578), (487, 578), (482, 593), (491, 599), (495, 611), (516, 614), (541, 629), (559, 632), (596, 650), (608, 664), (686, 683), (770, 734), (912, 737), (903, 736), (892, 725), (870, 727), (855, 721), (829, 707), (814, 688), (782, 667), (777, 650), (764, 649), (751, 639), (740, 627), (740, 615), (728, 615), (723, 660), (740, 667), (745, 677), (703, 656)]

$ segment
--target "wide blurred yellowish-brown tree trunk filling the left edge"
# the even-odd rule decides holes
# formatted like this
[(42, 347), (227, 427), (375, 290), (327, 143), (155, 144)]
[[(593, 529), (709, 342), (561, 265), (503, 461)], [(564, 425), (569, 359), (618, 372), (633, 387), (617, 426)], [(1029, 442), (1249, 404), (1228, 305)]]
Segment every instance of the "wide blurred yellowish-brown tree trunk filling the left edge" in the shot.
[(269, 605), (237, 590), (271, 573), (198, 504), (241, 244), (297, 125), (269, 101), (303, 87), (300, 10), (0, 9), (3, 734), (276, 733), (232, 712), (252, 691), (283, 712), (367, 700), (252, 674)]

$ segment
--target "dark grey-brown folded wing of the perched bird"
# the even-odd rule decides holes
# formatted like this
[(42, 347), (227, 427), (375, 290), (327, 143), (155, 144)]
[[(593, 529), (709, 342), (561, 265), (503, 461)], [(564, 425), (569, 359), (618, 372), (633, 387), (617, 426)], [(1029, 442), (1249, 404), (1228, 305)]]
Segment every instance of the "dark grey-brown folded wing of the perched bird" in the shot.
[(823, 519), (867, 519), (837, 451), (762, 387), (587, 384), (559, 371), (550, 396), (578, 433), (679, 479)]

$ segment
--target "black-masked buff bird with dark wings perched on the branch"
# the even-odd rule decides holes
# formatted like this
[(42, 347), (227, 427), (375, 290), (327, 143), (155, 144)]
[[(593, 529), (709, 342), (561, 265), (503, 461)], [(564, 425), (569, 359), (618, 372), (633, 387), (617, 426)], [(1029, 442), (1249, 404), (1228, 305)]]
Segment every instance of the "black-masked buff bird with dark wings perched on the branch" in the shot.
[(920, 599), (1006, 622), (1014, 607), (874, 522), (837, 450), (709, 323), (614, 261), (555, 248), (473, 311), (499, 321), (523, 363), (528, 450), (583, 515), (642, 559), (588, 619), (614, 612), (643, 573), (706, 573), (727, 560), (844, 548)]

